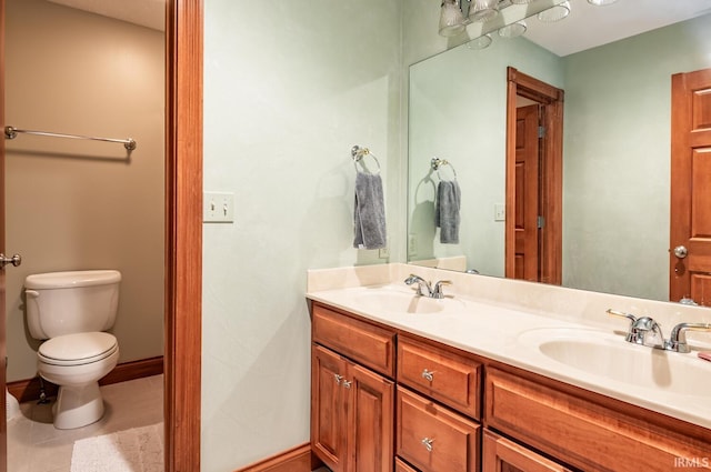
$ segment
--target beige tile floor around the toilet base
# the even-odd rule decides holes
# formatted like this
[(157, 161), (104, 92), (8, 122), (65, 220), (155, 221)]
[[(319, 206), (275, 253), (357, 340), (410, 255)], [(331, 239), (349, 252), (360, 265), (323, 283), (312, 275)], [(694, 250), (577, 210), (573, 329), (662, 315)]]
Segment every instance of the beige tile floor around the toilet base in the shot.
[(8, 423), (8, 471), (68, 472), (74, 441), (163, 421), (163, 376), (101, 388), (103, 418), (76, 430), (56, 430), (52, 403), (22, 403), (21, 414)]

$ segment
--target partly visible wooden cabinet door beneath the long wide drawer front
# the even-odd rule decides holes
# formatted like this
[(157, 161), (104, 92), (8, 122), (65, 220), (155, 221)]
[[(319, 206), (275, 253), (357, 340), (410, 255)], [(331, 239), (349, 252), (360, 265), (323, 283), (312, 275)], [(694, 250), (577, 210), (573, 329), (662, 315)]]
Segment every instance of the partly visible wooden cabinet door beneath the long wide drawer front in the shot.
[(484, 431), (483, 472), (570, 472), (491, 431)]

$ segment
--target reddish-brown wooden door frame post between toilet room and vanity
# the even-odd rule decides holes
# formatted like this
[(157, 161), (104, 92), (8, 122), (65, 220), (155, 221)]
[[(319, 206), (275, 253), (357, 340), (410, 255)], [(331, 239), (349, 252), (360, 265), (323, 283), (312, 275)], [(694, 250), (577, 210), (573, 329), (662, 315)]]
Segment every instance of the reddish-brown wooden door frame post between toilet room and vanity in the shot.
[(202, 0), (166, 12), (166, 471), (200, 470)]

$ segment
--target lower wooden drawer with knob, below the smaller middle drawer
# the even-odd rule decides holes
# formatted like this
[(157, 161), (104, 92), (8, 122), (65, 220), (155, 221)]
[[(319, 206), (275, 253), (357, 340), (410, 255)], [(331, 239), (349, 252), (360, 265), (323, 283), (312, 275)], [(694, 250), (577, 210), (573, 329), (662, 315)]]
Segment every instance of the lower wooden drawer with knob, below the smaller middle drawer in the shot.
[(478, 471), (480, 425), (398, 388), (398, 455), (423, 472)]

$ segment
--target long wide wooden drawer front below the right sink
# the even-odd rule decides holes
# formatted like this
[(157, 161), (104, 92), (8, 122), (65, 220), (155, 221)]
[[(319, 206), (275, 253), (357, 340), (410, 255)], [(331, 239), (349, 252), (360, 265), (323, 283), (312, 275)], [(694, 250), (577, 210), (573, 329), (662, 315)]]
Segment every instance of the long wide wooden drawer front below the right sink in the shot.
[[(487, 426), (582, 470), (687, 470), (688, 458), (705, 458), (709, 442), (615, 411), (590, 400), (497, 369), (487, 370)], [(652, 414), (652, 413), (650, 413)]]

